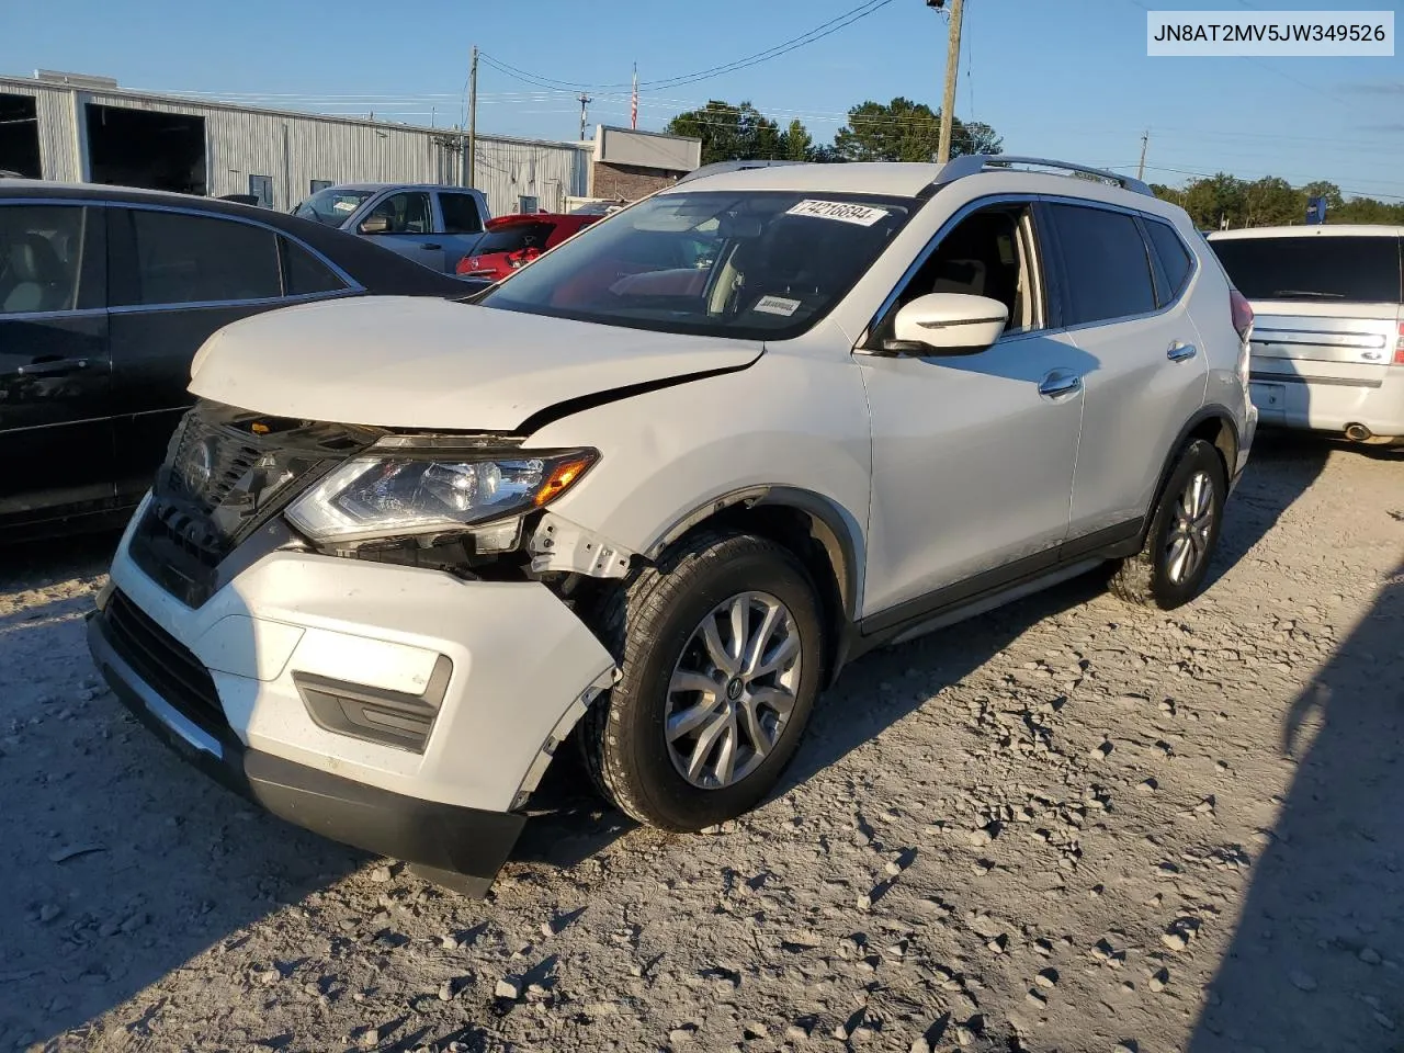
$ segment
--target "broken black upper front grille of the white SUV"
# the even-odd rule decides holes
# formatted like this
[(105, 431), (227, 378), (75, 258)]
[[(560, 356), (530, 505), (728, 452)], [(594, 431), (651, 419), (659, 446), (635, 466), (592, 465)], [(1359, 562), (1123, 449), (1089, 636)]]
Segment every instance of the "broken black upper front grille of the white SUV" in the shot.
[(132, 559), (188, 607), (216, 587), (233, 549), (380, 432), (197, 403), (171, 438)]

